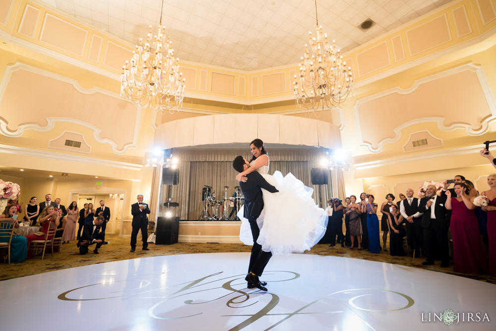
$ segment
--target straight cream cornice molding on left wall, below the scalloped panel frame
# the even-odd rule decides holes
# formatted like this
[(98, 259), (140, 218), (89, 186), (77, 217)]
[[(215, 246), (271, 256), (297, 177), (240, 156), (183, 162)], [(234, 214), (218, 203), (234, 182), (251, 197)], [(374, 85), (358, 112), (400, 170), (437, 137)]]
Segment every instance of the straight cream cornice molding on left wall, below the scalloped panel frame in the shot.
[(75, 162), (85, 165), (110, 166), (110, 167), (136, 170), (136, 171), (141, 170), (141, 168), (143, 167), (143, 165), (137, 165), (137, 164), (121, 162), (121, 161), (97, 159), (97, 158), (90, 158), (80, 155), (58, 153), (53, 151), (41, 151), (34, 148), (9, 146), (9, 145), (1, 145), (1, 144), (0, 144), (0, 153), (23, 155), (33, 158), (42, 158), (42, 159), (55, 160), (55, 161), (68, 161), (68, 162)]

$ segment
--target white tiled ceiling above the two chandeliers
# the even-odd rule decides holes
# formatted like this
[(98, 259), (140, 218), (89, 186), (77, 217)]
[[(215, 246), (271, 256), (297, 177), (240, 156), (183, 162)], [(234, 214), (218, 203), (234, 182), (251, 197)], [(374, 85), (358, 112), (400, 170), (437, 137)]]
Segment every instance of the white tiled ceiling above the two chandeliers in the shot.
[[(132, 44), (160, 21), (161, 0), (40, 0)], [(342, 53), (452, 0), (317, 0), (318, 23)], [(375, 24), (363, 31), (367, 18)], [(300, 62), (314, 0), (164, 0), (175, 56), (240, 70)], [(154, 30), (154, 34), (156, 34)]]

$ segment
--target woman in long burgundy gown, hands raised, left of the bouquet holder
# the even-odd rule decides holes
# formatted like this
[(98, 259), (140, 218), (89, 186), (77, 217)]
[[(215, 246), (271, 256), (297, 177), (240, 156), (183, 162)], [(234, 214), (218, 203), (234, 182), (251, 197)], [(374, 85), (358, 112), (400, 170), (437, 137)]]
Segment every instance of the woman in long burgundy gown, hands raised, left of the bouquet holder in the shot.
[(474, 197), (468, 195), (465, 183), (455, 184), (456, 197), (446, 190), (447, 210), (451, 213), (451, 238), (453, 239), (453, 271), (479, 275), (487, 271), (487, 262), (481, 244), (479, 222), (475, 217)]

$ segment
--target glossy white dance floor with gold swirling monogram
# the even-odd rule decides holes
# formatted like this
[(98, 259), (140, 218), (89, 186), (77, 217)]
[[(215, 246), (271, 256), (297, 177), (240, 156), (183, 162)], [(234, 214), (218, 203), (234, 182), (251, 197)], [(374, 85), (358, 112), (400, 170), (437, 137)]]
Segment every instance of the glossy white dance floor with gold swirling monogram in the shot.
[(494, 284), (293, 254), (269, 261), (262, 292), (246, 287), (248, 259), (170, 255), (0, 281), (1, 329), (496, 330)]

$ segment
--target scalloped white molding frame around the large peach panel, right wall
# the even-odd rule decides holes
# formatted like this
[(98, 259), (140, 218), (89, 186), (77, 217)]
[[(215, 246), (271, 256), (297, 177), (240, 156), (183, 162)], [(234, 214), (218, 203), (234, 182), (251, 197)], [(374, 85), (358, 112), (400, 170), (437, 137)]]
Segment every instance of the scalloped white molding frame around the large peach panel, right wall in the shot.
[[(362, 133), (362, 126), (361, 126), (362, 124), (360, 123), (360, 113), (359, 113), (359, 108), (362, 104), (364, 104), (368, 101), (379, 99), (381, 97), (388, 96), (388, 95), (395, 94), (395, 93), (400, 94), (400, 95), (411, 94), (415, 90), (417, 90), (420, 85), (422, 85), (424, 83), (433, 81), (433, 80), (438, 79), (438, 78), (446, 77), (446, 76), (449, 76), (449, 75), (452, 75), (452, 74), (455, 74), (458, 72), (462, 72), (462, 71), (467, 70), (467, 69), (476, 72), (479, 83), (481, 84), (482, 91), (486, 97), (486, 101), (488, 103), (489, 109), (491, 110), (491, 113), (492, 113), (492, 116), (488, 116), (480, 122), (481, 127), (479, 129), (472, 129), (469, 124), (464, 124), (464, 123), (454, 123), (451, 126), (444, 126), (443, 125), (444, 117), (421, 117), (421, 118), (417, 118), (414, 120), (410, 120), (408, 122), (405, 122), (405, 123), (397, 126), (396, 128), (393, 128), (392, 131), (395, 133), (395, 137), (386, 138), (386, 139), (382, 139), (382, 140), (378, 141), (377, 142), (377, 145), (378, 145), (377, 148), (374, 148), (372, 146), (372, 143), (364, 141), (364, 137), (363, 137), (363, 133)], [(356, 118), (356, 122), (357, 122), (357, 126), (358, 126), (358, 137), (359, 137), (360, 146), (367, 147), (371, 153), (380, 153), (380, 152), (382, 152), (384, 144), (397, 142), (401, 138), (401, 130), (403, 130), (404, 128), (411, 126), (413, 124), (425, 123), (425, 122), (435, 122), (437, 127), (441, 131), (444, 131), (444, 132), (450, 132), (450, 131), (453, 131), (455, 129), (464, 129), (467, 132), (467, 134), (472, 135), (472, 136), (478, 136), (478, 135), (482, 135), (482, 134), (486, 133), (489, 129), (489, 124), (491, 122), (493, 122), (494, 120), (496, 120), (496, 101), (495, 101), (495, 98), (492, 94), (491, 86), (489, 85), (489, 82), (486, 78), (486, 75), (484, 74), (483, 68), (480, 66), (476, 66), (473, 63), (462, 65), (462, 66), (459, 66), (459, 67), (456, 67), (456, 68), (453, 68), (450, 70), (443, 71), (443, 72), (438, 73), (438, 74), (434, 74), (434, 75), (429, 76), (429, 77), (425, 77), (425, 78), (416, 80), (414, 82), (414, 84), (412, 85), (412, 87), (409, 89), (406, 89), (406, 90), (401, 89), (399, 87), (395, 87), (393, 89), (372, 95), (370, 97), (367, 97), (364, 99), (359, 99), (359, 100), (357, 100), (357, 102), (354, 106), (354, 110), (355, 110), (355, 118)]]

